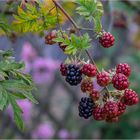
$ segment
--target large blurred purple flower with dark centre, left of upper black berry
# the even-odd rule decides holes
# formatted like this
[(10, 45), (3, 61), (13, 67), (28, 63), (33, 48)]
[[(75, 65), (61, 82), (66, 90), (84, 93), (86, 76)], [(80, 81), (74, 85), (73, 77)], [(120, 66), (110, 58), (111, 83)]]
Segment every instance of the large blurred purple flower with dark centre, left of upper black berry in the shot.
[(33, 79), (37, 84), (51, 82), (60, 63), (50, 58), (37, 58), (33, 63)]

